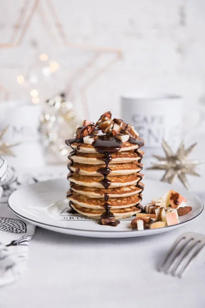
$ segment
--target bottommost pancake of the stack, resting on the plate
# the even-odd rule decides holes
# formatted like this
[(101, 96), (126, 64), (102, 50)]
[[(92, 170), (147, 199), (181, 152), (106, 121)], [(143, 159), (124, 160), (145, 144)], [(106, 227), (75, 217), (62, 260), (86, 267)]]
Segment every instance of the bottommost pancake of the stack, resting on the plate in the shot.
[[(75, 209), (77, 213), (90, 217), (92, 219), (100, 219), (100, 216), (105, 212), (105, 209), (91, 209), (91, 208), (79, 206), (75, 203), (72, 203), (71, 207)], [(136, 206), (112, 209), (112, 213), (114, 214), (116, 219), (132, 217), (133, 215), (139, 213), (140, 211), (141, 210), (137, 208)]]

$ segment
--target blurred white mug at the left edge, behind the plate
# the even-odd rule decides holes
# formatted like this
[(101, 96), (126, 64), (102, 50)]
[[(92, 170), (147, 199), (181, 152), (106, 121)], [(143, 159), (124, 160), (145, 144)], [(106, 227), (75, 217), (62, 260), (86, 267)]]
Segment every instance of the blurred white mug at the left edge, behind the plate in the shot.
[(44, 165), (43, 149), (39, 143), (39, 116), (41, 107), (25, 101), (0, 103), (0, 131), (8, 126), (3, 141), (19, 143), (11, 148), (15, 157), (6, 157), (14, 168)]

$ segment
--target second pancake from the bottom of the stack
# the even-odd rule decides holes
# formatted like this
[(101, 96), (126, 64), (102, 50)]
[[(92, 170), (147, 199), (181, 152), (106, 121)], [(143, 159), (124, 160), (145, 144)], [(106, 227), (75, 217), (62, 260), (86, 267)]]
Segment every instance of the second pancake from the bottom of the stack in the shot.
[[(84, 195), (79, 195), (77, 192), (73, 192), (71, 196), (68, 197), (68, 200), (72, 201), (73, 203), (93, 209), (103, 209), (105, 204), (104, 198), (89, 198)], [(141, 201), (141, 198), (138, 195), (134, 195), (131, 197), (125, 198), (109, 198), (109, 204), (111, 208), (127, 208), (130, 206), (135, 206)]]

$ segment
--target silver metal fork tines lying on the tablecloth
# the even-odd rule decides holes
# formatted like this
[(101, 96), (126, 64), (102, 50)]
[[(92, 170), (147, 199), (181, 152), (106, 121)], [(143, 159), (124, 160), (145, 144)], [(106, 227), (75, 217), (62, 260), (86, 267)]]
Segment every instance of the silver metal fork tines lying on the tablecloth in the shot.
[(187, 232), (179, 236), (171, 246), (159, 272), (182, 278), (205, 246), (205, 235)]

